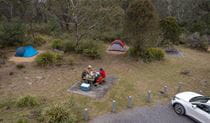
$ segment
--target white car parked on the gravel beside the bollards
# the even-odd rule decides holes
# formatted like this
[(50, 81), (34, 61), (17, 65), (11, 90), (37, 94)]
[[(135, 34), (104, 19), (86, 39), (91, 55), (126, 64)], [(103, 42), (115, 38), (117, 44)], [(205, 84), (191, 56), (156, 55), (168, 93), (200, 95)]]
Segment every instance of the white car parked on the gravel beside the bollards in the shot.
[(171, 101), (178, 115), (187, 115), (201, 123), (210, 123), (210, 97), (194, 92), (182, 92)]

